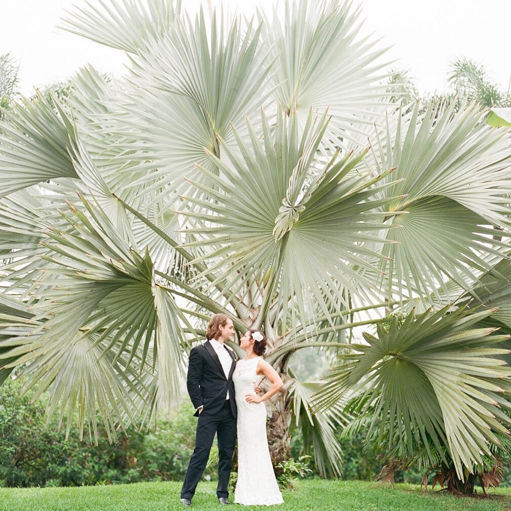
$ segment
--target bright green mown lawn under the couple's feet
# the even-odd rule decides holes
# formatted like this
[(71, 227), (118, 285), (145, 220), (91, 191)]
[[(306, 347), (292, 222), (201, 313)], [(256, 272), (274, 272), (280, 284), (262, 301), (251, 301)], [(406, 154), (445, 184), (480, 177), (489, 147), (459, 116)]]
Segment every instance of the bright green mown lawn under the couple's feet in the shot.
[[(184, 509), (179, 482), (83, 486), (76, 488), (0, 488), (0, 511), (167, 511)], [(219, 509), (216, 484), (200, 482), (192, 509)], [(489, 498), (460, 498), (421, 492), (419, 486), (398, 484), (396, 489), (374, 488), (361, 481), (299, 481), (285, 491), (279, 511), (511, 511), (511, 489), (496, 489)], [(232, 499), (232, 496), (230, 496)], [(233, 505), (229, 509), (241, 509)], [(268, 509), (243, 506), (243, 509)]]

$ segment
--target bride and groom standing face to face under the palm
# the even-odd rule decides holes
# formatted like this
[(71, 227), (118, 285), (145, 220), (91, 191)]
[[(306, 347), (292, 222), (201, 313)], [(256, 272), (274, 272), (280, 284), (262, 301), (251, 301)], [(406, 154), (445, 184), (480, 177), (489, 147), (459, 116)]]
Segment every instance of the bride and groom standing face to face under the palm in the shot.
[[(248, 330), (240, 339), (246, 357), (225, 345), (234, 336), (233, 320), (215, 314), (206, 330), (206, 341), (190, 351), (187, 388), (198, 417), (195, 450), (181, 489), (181, 503), (190, 506), (210, 455), (215, 433), (218, 441), (220, 504), (229, 504), (227, 485), (238, 435), (238, 480), (234, 501), (244, 505), (283, 503), (271, 464), (266, 436), (266, 406), (283, 386), (273, 367), (262, 359), (266, 337)], [(258, 384), (267, 377), (271, 387), (258, 396)]]

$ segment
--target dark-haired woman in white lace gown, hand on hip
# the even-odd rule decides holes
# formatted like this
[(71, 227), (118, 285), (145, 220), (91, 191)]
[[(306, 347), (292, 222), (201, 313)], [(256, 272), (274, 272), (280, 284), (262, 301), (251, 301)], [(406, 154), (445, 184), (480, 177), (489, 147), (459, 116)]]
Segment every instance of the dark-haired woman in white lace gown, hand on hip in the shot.
[[(233, 374), (238, 408), (238, 481), (234, 501), (244, 505), (282, 504), (282, 493), (273, 471), (266, 436), (266, 406), (282, 387), (282, 379), (261, 355), (266, 337), (258, 330), (248, 330), (240, 339), (246, 357), (238, 360)], [(254, 392), (267, 377), (270, 389), (262, 396)]]

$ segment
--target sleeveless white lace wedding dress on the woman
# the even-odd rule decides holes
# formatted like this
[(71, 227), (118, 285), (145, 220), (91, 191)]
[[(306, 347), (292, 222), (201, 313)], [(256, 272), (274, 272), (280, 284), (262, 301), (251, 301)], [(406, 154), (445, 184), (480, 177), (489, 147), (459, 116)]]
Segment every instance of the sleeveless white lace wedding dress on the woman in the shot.
[(261, 380), (255, 373), (260, 358), (239, 360), (233, 373), (238, 407), (238, 482), (234, 501), (244, 505), (284, 502), (268, 450), (266, 406), (245, 401), (246, 394), (255, 394), (254, 386)]

